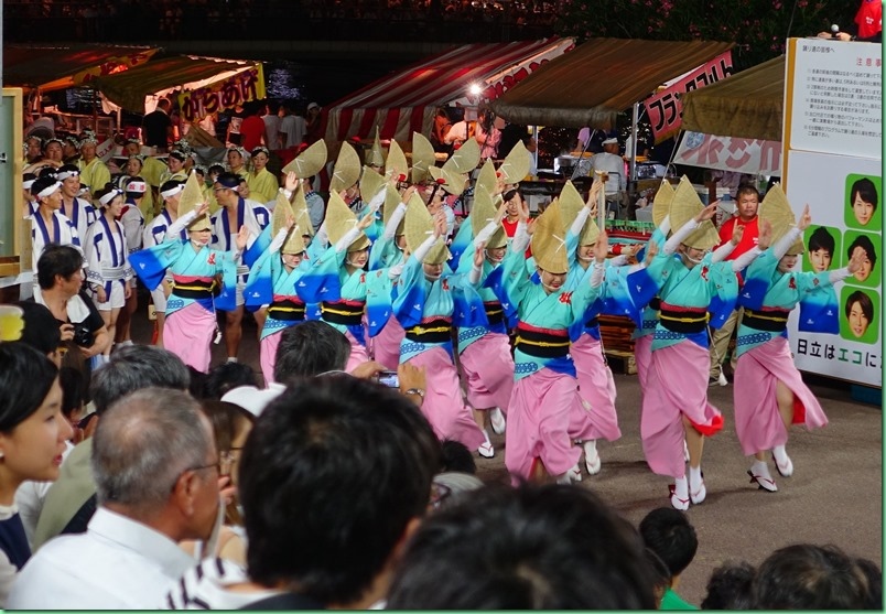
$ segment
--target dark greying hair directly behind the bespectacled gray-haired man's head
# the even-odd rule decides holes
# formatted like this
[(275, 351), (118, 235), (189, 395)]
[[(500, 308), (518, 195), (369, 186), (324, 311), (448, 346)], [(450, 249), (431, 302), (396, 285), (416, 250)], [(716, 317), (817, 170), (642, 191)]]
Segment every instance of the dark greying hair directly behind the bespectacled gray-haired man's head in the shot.
[(190, 376), (182, 359), (153, 345), (128, 345), (93, 375), (90, 391), (101, 416), (126, 395), (142, 388), (187, 390)]

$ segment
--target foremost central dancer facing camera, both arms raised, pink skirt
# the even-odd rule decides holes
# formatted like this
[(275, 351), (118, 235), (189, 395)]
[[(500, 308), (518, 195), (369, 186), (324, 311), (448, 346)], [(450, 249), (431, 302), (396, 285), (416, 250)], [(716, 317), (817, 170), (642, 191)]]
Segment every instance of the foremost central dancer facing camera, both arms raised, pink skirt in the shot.
[(526, 265), (527, 223), (528, 212), (523, 211), (501, 265), (501, 303), (506, 313), (516, 309), (519, 320), (505, 464), (514, 480), (538, 478), (541, 470), (569, 483), (571, 470), (581, 457), (581, 450), (572, 444), (570, 420), (573, 411), (584, 410), (570, 357), (569, 330), (599, 295), (606, 236), (602, 234), (597, 240), (594, 266), (569, 292), (564, 288), (569, 258), (560, 204), (551, 203), (532, 226), (538, 282)]

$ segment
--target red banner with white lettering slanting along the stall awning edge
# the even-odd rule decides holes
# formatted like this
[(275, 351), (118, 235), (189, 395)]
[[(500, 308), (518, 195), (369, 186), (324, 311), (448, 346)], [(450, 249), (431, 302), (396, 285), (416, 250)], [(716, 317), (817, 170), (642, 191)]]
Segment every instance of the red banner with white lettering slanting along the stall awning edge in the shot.
[(683, 123), (683, 104), (680, 101), (682, 94), (711, 85), (720, 79), (725, 79), (732, 74), (732, 51), (727, 51), (694, 71), (690, 71), (682, 77), (670, 82), (668, 87), (644, 100), (656, 142), (661, 142), (671, 137)]

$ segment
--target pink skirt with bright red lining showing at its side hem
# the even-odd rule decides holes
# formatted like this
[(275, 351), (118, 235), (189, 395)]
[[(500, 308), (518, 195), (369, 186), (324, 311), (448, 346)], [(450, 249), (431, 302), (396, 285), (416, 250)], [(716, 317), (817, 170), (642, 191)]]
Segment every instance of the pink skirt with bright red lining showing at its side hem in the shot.
[(707, 349), (689, 341), (652, 352), (640, 437), (646, 462), (659, 475), (685, 475), (683, 416), (705, 435), (723, 428), (720, 410), (707, 402), (710, 366)]

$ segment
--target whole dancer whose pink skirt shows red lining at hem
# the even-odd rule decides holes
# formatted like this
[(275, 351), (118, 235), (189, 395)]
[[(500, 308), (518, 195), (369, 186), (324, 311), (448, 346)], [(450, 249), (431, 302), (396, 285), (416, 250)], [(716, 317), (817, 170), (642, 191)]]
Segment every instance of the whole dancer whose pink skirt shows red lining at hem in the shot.
[[(670, 502), (677, 509), (688, 509), (690, 500), (704, 500), (704, 437), (723, 428), (720, 410), (707, 401), (709, 311), (711, 325), (722, 325), (737, 298), (735, 272), (759, 255), (755, 248), (736, 260), (713, 261), (710, 249), (718, 243), (718, 235), (710, 220), (715, 209), (716, 203), (704, 207), (683, 177), (669, 214), (679, 230), (667, 240), (648, 270), (659, 283), (660, 314), (644, 390), (640, 435), (649, 467), (674, 480)], [(760, 241), (765, 240), (761, 235)]]

